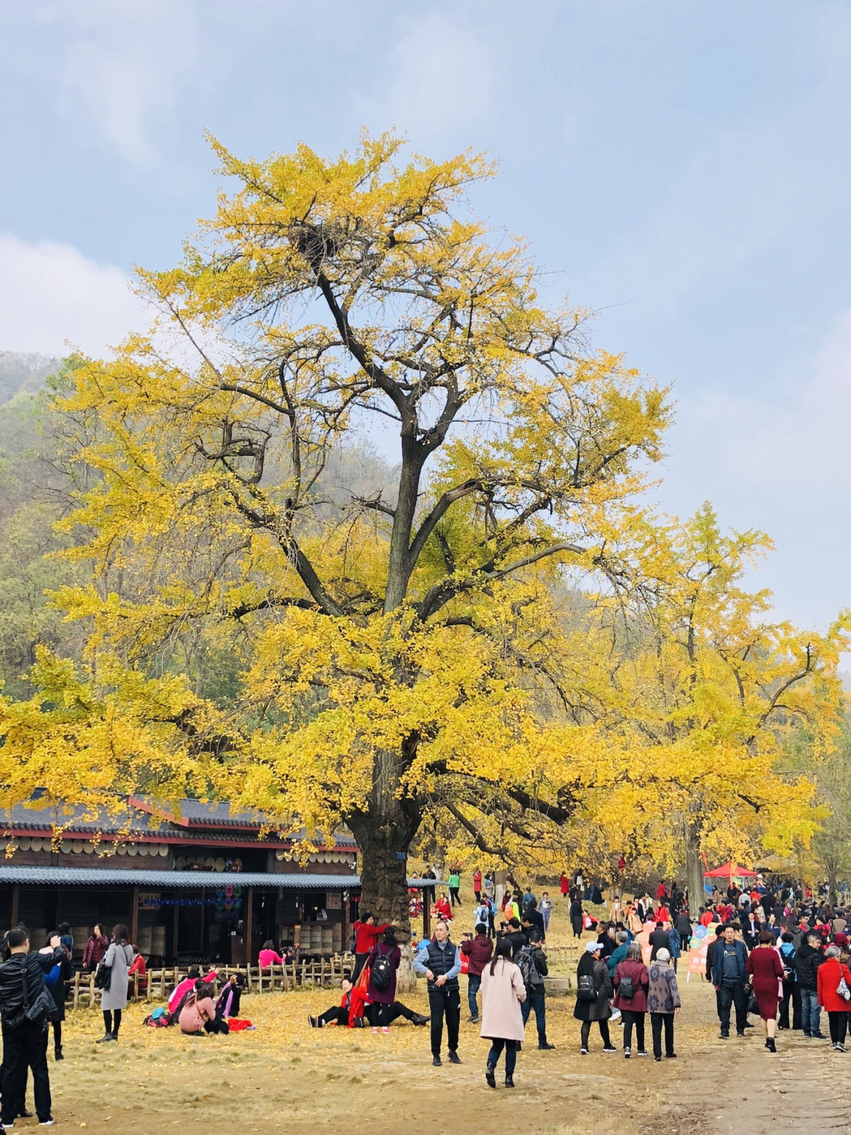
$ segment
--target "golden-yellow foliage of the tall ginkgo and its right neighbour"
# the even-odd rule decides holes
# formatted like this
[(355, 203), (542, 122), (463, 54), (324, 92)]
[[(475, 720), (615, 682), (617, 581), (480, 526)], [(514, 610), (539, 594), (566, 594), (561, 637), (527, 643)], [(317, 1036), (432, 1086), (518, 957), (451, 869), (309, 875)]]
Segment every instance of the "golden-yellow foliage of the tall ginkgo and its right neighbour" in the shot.
[(808, 838), (775, 765), (791, 724), (831, 743), (844, 623), (769, 624), (764, 537), (643, 511), (668, 392), (471, 215), (490, 167), (213, 146), (236, 190), (140, 274), (148, 334), (57, 380), (82, 644), (0, 703), (0, 799), (344, 823), (403, 925), (426, 818), (492, 861)]

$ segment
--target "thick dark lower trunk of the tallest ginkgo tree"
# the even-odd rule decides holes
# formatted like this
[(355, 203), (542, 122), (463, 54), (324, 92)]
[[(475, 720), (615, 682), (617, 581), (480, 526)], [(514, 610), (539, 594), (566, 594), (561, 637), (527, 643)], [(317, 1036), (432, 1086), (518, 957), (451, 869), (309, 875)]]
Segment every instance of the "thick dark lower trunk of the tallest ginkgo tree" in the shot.
[(399, 791), (402, 764), (397, 754), (376, 755), (369, 810), (354, 812), (347, 823), (361, 850), (360, 909), (374, 915), (377, 924), (393, 923), (396, 928), (402, 948), (396, 989), (404, 993), (416, 984), (411, 967), (407, 849), (422, 813), (411, 797)]

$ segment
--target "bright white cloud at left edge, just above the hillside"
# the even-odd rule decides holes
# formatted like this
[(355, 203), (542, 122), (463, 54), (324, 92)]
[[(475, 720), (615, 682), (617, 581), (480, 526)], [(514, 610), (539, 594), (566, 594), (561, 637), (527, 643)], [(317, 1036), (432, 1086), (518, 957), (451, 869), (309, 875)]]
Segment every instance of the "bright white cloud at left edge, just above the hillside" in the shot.
[(70, 244), (0, 236), (0, 350), (100, 355), (144, 327), (126, 275)]

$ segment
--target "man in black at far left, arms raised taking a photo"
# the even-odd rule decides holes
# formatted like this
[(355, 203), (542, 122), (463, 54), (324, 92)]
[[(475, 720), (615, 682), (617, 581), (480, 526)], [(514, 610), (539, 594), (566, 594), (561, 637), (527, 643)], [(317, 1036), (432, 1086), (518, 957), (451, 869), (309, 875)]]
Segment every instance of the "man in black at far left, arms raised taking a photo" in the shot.
[[(48, 1071), (48, 991), (44, 974), (65, 957), (57, 934), (49, 953), (30, 952), (30, 932), (16, 927), (9, 933), (9, 960), (0, 966), (0, 1016), (3, 1035), (3, 1084), (0, 1123), (11, 1127), (24, 1111), (27, 1068), (33, 1073), (33, 1094), (39, 1123), (52, 1124), (50, 1115), (50, 1074)], [(40, 999), (44, 1011), (31, 1019), (26, 1015)], [(51, 1001), (52, 1003), (52, 1001)]]

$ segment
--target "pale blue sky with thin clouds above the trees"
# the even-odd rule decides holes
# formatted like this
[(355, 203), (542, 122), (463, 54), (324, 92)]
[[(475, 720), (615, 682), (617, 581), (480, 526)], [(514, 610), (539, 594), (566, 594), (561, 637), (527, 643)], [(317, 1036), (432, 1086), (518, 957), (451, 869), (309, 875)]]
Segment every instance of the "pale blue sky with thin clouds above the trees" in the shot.
[(851, 604), (851, 2), (5, 0), (0, 52), (0, 350), (121, 336), (212, 209), (204, 128), (487, 150), (478, 209), (675, 386), (664, 506), (767, 529), (784, 617)]

